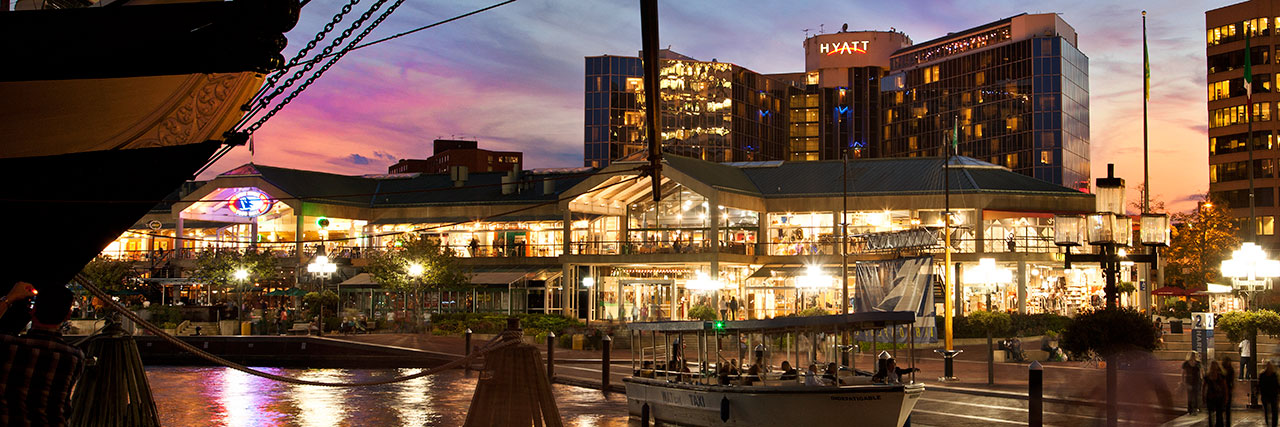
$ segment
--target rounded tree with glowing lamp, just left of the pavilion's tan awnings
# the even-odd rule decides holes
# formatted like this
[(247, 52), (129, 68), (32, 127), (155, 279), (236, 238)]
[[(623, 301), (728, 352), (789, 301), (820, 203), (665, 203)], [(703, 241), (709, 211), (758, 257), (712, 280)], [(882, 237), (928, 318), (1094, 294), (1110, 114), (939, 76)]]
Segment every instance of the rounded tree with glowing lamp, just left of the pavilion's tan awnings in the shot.
[(365, 271), (383, 286), (410, 294), (417, 306), (415, 311), (422, 307), (426, 290), (471, 286), (470, 272), (460, 265), (453, 249), (421, 237), (410, 235), (398, 248), (374, 253)]

